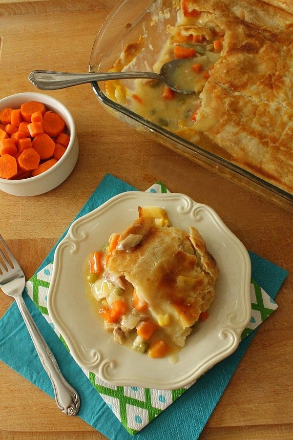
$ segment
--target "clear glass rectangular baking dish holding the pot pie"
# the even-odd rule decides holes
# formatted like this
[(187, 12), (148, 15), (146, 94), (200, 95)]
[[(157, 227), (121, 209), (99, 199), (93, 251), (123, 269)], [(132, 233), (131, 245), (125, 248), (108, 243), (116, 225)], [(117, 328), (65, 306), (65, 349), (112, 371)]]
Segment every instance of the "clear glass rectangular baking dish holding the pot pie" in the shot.
[[(137, 42), (141, 36), (145, 37), (143, 55), (136, 57), (135, 66), (132, 63), (130, 69), (146, 70), (146, 62), (148, 66), (153, 65), (169, 37), (166, 32), (167, 24), (174, 25), (177, 19), (177, 11), (173, 4), (172, 0), (118, 2), (118, 6), (107, 17), (95, 39), (90, 57), (90, 72), (107, 72), (121, 57), (123, 48), (127, 44)], [(154, 21), (153, 17), (159, 11), (167, 13), (161, 14), (160, 20)], [(124, 70), (127, 71), (127, 66)], [(125, 83), (131, 87), (131, 81), (134, 80), (125, 80)], [(221, 148), (211, 143), (209, 145), (209, 142), (205, 142), (205, 145), (195, 145), (145, 119), (127, 108), (127, 105), (109, 99), (104, 82), (91, 85), (97, 98), (114, 117), (201, 166), (293, 210), (293, 194), (230, 162), (228, 155)]]

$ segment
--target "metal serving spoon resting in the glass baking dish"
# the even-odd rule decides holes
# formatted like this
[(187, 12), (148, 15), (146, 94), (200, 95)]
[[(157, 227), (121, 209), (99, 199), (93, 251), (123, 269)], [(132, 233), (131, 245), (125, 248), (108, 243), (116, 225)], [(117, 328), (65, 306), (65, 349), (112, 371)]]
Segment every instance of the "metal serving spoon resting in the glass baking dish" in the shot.
[[(65, 73), (50, 70), (33, 70), (28, 79), (41, 90), (58, 90), (73, 85), (99, 81), (122, 80), (130, 78), (155, 79), (166, 84), (170, 89), (180, 93), (194, 93), (184, 81), (180, 81), (184, 63), (187, 60), (173, 60), (163, 64), (160, 73), (154, 72), (107, 72), (107, 73)], [(188, 60), (189, 61), (189, 60)]]

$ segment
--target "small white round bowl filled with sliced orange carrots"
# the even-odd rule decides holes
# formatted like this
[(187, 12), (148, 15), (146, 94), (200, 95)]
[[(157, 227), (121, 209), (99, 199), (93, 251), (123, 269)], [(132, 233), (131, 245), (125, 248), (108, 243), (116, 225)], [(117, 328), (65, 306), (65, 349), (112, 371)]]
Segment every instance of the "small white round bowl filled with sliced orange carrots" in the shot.
[(78, 159), (74, 120), (42, 93), (0, 99), (0, 190), (34, 196), (59, 186)]

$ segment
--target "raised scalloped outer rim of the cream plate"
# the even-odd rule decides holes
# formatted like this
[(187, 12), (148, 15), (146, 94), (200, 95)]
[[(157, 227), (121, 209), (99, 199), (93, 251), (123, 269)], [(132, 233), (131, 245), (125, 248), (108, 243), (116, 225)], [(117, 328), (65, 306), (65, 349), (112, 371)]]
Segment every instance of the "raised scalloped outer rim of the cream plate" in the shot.
[[(151, 194), (151, 195), (150, 195)], [(100, 359), (96, 358), (96, 361), (100, 367), (95, 369), (94, 365), (89, 365), (84, 359), (81, 359), (79, 353), (77, 352), (75, 345), (76, 343), (71, 340), (70, 336), (68, 335), (68, 331), (66, 328), (64, 328), (61, 317), (56, 314), (56, 311), (54, 310), (54, 295), (56, 295), (56, 289), (55, 285), (58, 284), (59, 276), (62, 276), (61, 271), (59, 270), (60, 262), (62, 259), (62, 252), (63, 248), (66, 246), (73, 246), (74, 248), (74, 240), (83, 241), (86, 239), (84, 236), (78, 236), (77, 231), (79, 228), (82, 228), (84, 224), (86, 224), (88, 221), (94, 220), (95, 216), (103, 216), (103, 213), (107, 211), (111, 206), (115, 206), (117, 203), (120, 204), (123, 201), (127, 201), (130, 199), (130, 201), (136, 201), (135, 207), (137, 208), (138, 202), (137, 199), (142, 200), (142, 203), (144, 202), (144, 198), (154, 198), (157, 202), (160, 201), (162, 203), (162, 200), (165, 201), (177, 201), (182, 202), (187, 201), (191, 207), (191, 210), (204, 210), (205, 212), (208, 212), (210, 216), (212, 216), (213, 221), (217, 223), (217, 226), (220, 227), (220, 229), (233, 241), (234, 245), (237, 247), (237, 250), (239, 252), (239, 255), (241, 255), (245, 271), (242, 278), (242, 290), (245, 291), (245, 296), (242, 298), (243, 304), (242, 307), (245, 308), (245, 315), (243, 316), (242, 322), (237, 326), (234, 325), (234, 327), (228, 327), (227, 331), (230, 331), (231, 333), (231, 344), (230, 346), (226, 347), (225, 350), (222, 350), (222, 352), (218, 353), (217, 356), (210, 356), (209, 359), (206, 359), (206, 362), (203, 365), (200, 365), (193, 373), (186, 374), (185, 376), (182, 375), (180, 379), (176, 380), (166, 380), (165, 383), (158, 383), (155, 379), (152, 378), (143, 378), (139, 381), (133, 380), (131, 377), (125, 377), (116, 378), (115, 375), (111, 378), (105, 377), (105, 370), (107, 368), (116, 368), (115, 360), (113, 359)], [(127, 202), (126, 202), (127, 203)], [(175, 203), (176, 205), (176, 203)], [(136, 211), (137, 212), (137, 211)], [(54, 264), (55, 263), (55, 264)], [(115, 386), (139, 386), (139, 387), (147, 387), (147, 388), (159, 388), (159, 389), (176, 389), (181, 388), (184, 386), (187, 386), (189, 383), (193, 382), (197, 378), (199, 378), (202, 374), (204, 374), (207, 370), (209, 370), (212, 366), (214, 366), (216, 363), (220, 362), (224, 358), (230, 356), (236, 348), (238, 347), (240, 340), (241, 340), (241, 333), (244, 330), (244, 328), (247, 326), (251, 319), (251, 298), (250, 298), (250, 283), (251, 283), (251, 260), (248, 251), (246, 250), (243, 243), (238, 239), (238, 237), (227, 227), (227, 225), (223, 222), (223, 220), (220, 218), (220, 216), (216, 213), (215, 210), (213, 210), (208, 205), (195, 202), (192, 198), (190, 198), (188, 195), (183, 193), (150, 193), (150, 192), (143, 192), (143, 191), (126, 191), (122, 192), (120, 194), (117, 194), (113, 197), (111, 197), (109, 200), (105, 201), (103, 204), (101, 204), (99, 207), (95, 208), (94, 210), (91, 210), (90, 212), (84, 214), (83, 216), (77, 218), (72, 222), (70, 227), (68, 228), (66, 234), (64, 235), (63, 239), (60, 241), (58, 246), (55, 250), (54, 255), (54, 262), (53, 262), (53, 271), (52, 271), (52, 277), (47, 297), (47, 307), (48, 307), (48, 313), (50, 318), (52, 319), (53, 324), (56, 326), (56, 328), (59, 330), (59, 332), (63, 335), (66, 344), (69, 347), (70, 353), (72, 357), (76, 360), (76, 362), (79, 364), (81, 368), (84, 368), (86, 370), (90, 370), (94, 372), (98, 377), (100, 377), (105, 382), (109, 383), (110, 385)], [(84, 293), (85, 295), (85, 293)], [(124, 348), (124, 350), (127, 350)], [(98, 356), (99, 357), (99, 356)], [(154, 361), (154, 359), (152, 359)], [(101, 372), (101, 363), (103, 364), (103, 372)], [(92, 367), (92, 368), (90, 368)], [(101, 377), (102, 376), (102, 377)]]

